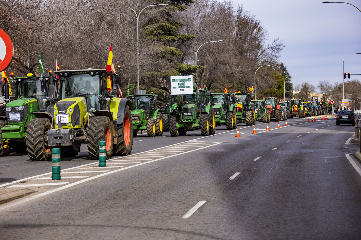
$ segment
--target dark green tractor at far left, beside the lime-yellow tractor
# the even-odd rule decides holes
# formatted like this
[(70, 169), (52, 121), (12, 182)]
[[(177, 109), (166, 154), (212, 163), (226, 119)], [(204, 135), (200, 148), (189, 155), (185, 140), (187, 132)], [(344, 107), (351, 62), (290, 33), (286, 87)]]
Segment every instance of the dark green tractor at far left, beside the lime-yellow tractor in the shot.
[[(48, 95), (47, 87), (53, 81), (50, 76), (33, 76), (29, 73), (26, 77), (16, 77), (12, 81), (15, 85), (14, 100), (8, 101), (5, 106), (5, 116), (0, 117), (1, 147), (0, 155), (6, 156), (12, 147), (16, 153), (26, 153), (26, 129), (31, 119), (35, 118), (34, 112), (46, 112), (48, 103), (43, 99)], [(3, 90), (8, 86), (3, 85)], [(5, 99), (9, 99), (9, 92), (3, 91)]]

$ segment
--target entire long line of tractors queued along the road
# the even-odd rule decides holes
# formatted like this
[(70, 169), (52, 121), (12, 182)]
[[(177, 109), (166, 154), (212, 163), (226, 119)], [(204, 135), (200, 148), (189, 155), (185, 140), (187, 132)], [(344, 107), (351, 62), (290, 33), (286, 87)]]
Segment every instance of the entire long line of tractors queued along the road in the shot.
[(325, 113), (322, 102), (252, 100), (247, 92), (210, 93), (196, 83), (192, 94), (165, 94), (164, 109), (158, 109), (158, 96), (153, 93), (128, 98), (113, 95), (118, 82), (117, 74), (106, 69), (49, 71), (47, 76), (11, 74), (14, 93), (7, 83), (2, 86), (5, 108), (0, 116), (0, 156), (12, 148), (27, 153), (32, 161), (49, 160), (51, 149), (57, 147), (62, 157), (74, 157), (81, 144), (86, 144), (89, 157), (99, 159), (99, 142), (105, 141), (109, 159), (129, 155), (133, 138), (143, 130), (148, 137), (162, 136), (163, 131), (182, 136), (194, 130), (208, 136), (221, 125), (231, 130), (237, 123), (304, 118), (313, 116), (314, 110), (316, 115)]

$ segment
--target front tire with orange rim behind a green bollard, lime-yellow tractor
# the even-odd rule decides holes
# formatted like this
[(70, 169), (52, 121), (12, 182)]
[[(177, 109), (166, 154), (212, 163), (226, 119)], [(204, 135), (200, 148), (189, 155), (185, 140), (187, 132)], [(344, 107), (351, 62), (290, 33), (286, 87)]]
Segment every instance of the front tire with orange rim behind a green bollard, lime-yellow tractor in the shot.
[(88, 122), (87, 146), (91, 159), (99, 159), (100, 141), (105, 141), (106, 159), (110, 159), (113, 151), (112, 122), (105, 116), (92, 117)]

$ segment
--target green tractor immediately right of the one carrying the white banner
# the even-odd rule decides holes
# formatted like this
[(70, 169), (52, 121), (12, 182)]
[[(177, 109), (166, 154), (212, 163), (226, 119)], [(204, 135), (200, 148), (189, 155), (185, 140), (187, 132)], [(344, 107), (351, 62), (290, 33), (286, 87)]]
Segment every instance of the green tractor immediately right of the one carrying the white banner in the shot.
[(236, 108), (231, 103), (230, 94), (211, 93), (210, 102), (214, 110), (216, 124), (225, 124), (228, 130), (237, 128)]

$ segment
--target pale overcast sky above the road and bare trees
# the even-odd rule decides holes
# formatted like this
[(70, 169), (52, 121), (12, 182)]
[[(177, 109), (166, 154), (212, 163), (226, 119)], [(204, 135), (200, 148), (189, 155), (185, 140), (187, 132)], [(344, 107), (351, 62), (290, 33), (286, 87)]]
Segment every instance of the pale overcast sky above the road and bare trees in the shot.
[[(348, 0), (361, 9), (361, 1)], [(293, 83), (343, 81), (344, 72), (361, 73), (361, 12), (345, 3), (322, 0), (233, 0), (255, 15), (269, 33), (286, 46), (280, 62)], [(354, 53), (355, 52), (355, 53)], [(361, 80), (361, 75), (351, 75)], [(348, 80), (346, 75), (346, 81)]]

